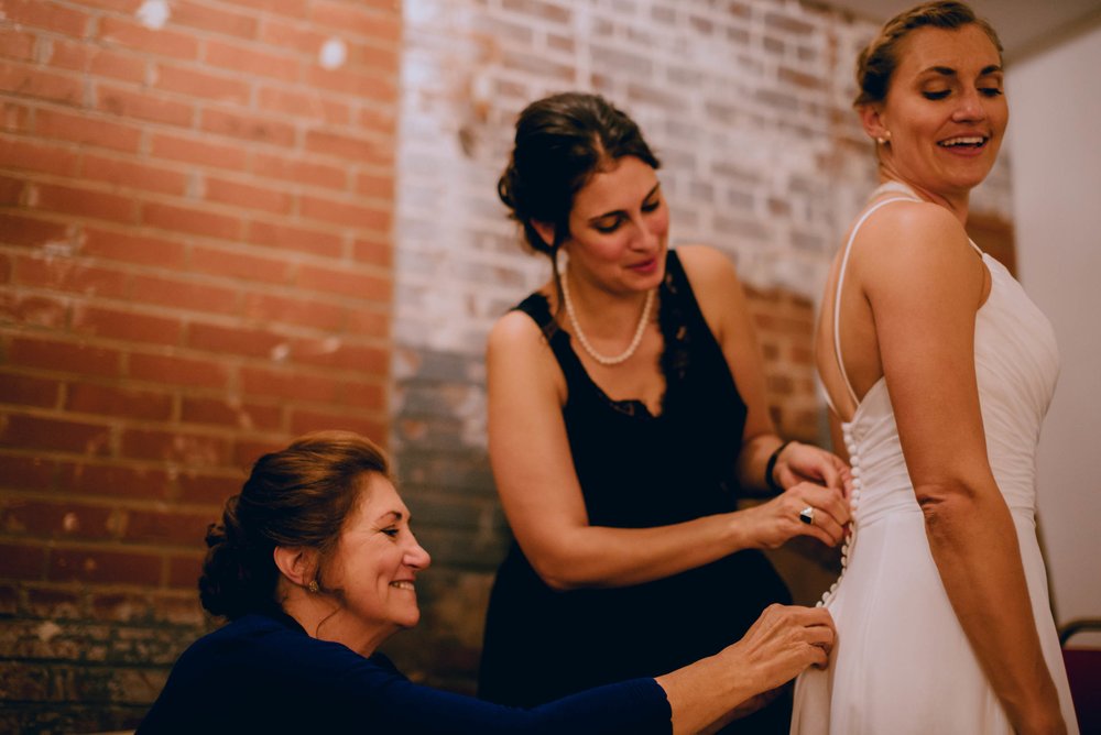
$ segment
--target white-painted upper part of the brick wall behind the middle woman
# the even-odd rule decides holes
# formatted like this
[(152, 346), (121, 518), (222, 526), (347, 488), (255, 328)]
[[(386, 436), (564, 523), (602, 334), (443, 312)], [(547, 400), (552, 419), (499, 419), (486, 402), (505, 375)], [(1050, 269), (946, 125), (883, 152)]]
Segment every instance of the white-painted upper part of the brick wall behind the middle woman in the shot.
[[(663, 161), (674, 242), (729, 253), (750, 285), (817, 301), (874, 185), (850, 108), (871, 24), (794, 0), (406, 0), (399, 152), (399, 344), (480, 355), (547, 277), (495, 196), (516, 113), (603, 94)], [(977, 210), (1010, 218), (1005, 172)], [(399, 365), (399, 371), (401, 366)]]

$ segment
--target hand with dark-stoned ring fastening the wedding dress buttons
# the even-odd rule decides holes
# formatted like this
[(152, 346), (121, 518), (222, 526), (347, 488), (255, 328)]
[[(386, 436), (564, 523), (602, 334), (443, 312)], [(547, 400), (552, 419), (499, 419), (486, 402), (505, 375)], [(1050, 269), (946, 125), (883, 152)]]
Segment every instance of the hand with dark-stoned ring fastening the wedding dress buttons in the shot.
[[(799, 517), (807, 506), (814, 508), (814, 522), (809, 524)], [(796, 536), (813, 536), (826, 546), (837, 546), (852, 519), (841, 490), (813, 482), (800, 482), (783, 495), (741, 513), (745, 514), (753, 546), (762, 549), (775, 549)]]

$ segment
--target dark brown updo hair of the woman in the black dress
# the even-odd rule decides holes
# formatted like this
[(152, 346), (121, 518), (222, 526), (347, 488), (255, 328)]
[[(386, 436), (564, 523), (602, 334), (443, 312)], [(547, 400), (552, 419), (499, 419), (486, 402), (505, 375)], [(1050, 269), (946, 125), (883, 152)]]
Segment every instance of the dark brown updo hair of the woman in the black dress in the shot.
[[(593, 173), (624, 156), (661, 167), (634, 120), (599, 95), (560, 92), (532, 102), (516, 120), (514, 142), (497, 193), (531, 249), (552, 261), (569, 234), (574, 195)], [(533, 220), (554, 226), (553, 243)]]

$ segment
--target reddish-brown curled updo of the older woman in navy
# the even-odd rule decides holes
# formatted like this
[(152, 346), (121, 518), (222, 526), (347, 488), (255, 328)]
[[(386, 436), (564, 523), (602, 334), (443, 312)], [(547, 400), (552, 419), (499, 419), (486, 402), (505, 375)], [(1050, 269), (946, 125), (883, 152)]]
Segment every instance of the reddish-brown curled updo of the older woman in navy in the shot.
[(317, 549), (324, 567), (357, 507), (364, 472), (390, 476), (382, 450), (351, 431), (307, 434), (257, 460), (241, 492), (226, 501), (221, 523), (207, 530), (203, 606), (229, 619), (277, 612), (275, 547)]

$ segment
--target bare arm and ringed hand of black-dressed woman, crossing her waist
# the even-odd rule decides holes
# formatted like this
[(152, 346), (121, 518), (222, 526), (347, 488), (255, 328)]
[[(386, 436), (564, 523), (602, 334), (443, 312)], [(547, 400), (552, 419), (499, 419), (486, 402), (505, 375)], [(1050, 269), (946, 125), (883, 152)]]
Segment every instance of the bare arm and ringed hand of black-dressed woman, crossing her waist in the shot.
[(749, 511), (655, 528), (591, 526), (562, 417), (565, 379), (526, 315), (505, 315), (493, 328), (487, 369), (490, 462), (498, 493), (516, 540), (553, 588), (637, 584), (740, 549), (775, 547), (795, 535), (826, 544), (841, 538), (840, 524), (824, 528), (799, 523), (799, 509), (807, 504), (847, 518), (836, 492), (809, 483)]

